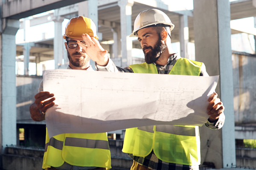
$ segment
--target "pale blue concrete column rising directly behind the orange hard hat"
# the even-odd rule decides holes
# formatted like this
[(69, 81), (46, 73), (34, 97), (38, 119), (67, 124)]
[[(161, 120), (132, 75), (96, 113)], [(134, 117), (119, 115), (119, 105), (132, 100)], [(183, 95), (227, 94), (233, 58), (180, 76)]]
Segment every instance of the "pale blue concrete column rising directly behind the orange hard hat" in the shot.
[[(87, 0), (79, 3), (78, 5), (78, 15), (88, 17), (93, 20), (97, 29), (97, 36), (99, 41), (102, 40), (102, 33), (98, 32), (98, 0)], [(90, 60), (90, 65), (95, 70), (95, 62)]]

